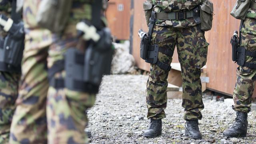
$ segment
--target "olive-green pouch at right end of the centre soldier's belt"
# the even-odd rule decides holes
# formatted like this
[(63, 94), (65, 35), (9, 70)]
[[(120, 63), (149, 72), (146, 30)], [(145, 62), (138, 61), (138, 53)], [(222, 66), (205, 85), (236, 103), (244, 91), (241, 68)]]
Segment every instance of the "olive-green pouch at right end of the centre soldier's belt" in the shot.
[(212, 29), (213, 20), (213, 4), (206, 1), (202, 4), (200, 9), (201, 30), (208, 31)]

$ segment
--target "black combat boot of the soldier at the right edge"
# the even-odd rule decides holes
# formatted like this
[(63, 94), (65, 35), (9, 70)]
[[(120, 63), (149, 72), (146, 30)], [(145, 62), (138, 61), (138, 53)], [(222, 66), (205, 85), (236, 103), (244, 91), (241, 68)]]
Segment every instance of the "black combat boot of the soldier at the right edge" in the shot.
[(247, 113), (236, 112), (236, 122), (230, 128), (224, 130), (223, 136), (230, 138), (246, 137), (247, 134)]

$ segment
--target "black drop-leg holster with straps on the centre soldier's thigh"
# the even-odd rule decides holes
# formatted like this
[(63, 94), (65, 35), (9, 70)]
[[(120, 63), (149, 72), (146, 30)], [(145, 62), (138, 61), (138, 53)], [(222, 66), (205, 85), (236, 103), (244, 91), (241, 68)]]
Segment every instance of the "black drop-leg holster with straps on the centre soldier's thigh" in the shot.
[(142, 30), (139, 30), (139, 36), (141, 37), (141, 43), (140, 43), (140, 57), (145, 60), (147, 63), (150, 64), (156, 64), (161, 69), (170, 71), (171, 66), (168, 64), (164, 64), (158, 60), (158, 53), (162, 52), (163, 54), (166, 54), (167, 56), (172, 57), (173, 52), (171, 50), (168, 50), (166, 48), (159, 47), (158, 44), (151, 45), (151, 38), (152, 38), (152, 32), (154, 29), (155, 24), (155, 17), (156, 12), (152, 11), (151, 17), (150, 17), (150, 23), (148, 27), (148, 33), (144, 33)]

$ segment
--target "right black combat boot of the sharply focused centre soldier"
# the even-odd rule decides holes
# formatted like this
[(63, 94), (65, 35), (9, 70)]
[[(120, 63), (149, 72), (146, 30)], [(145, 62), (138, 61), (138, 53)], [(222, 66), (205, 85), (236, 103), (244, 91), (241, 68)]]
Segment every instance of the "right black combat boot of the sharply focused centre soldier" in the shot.
[(202, 139), (202, 134), (198, 128), (198, 120), (186, 121), (185, 135), (193, 139)]

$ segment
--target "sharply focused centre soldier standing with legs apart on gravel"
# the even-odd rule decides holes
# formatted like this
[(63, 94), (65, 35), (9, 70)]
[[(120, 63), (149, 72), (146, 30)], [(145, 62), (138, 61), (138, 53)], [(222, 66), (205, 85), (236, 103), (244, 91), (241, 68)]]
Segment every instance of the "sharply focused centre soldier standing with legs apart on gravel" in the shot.
[[(185, 134), (190, 138), (202, 139), (198, 128), (198, 120), (202, 119), (200, 111), (204, 109), (200, 69), (206, 64), (208, 43), (204, 31), (200, 28), (199, 6), (204, 1), (147, 0), (144, 3), (146, 13), (148, 10), (153, 11), (149, 34), (152, 35), (153, 51), (156, 51), (151, 60), (146, 60), (151, 63), (146, 96), (150, 125), (144, 131), (144, 137), (154, 138), (162, 132), (162, 118), (166, 117), (164, 109), (167, 104), (167, 77), (171, 69), (174, 48), (177, 46), (182, 70)], [(212, 13), (213, 6), (211, 5), (208, 10)], [(150, 51), (152, 46), (149, 48)]]

